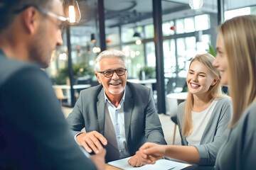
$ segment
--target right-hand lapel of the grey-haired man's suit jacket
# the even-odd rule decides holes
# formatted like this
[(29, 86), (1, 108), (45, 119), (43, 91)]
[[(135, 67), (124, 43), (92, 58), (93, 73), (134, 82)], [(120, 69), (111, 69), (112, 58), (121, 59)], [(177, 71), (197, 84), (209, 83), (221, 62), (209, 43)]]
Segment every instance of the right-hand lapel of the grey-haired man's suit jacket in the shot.
[(129, 86), (126, 86), (125, 98), (124, 98), (124, 128), (125, 128), (125, 137), (128, 141), (129, 129), (132, 119), (132, 109), (134, 108), (134, 99), (132, 96), (132, 91), (129, 89)]

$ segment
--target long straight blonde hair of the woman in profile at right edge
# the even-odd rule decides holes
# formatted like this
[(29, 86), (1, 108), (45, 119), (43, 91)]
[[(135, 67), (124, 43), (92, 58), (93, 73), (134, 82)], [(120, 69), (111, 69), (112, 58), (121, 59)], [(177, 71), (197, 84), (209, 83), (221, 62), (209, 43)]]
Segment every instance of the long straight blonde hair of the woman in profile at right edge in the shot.
[(219, 29), (228, 58), (228, 84), (233, 102), (234, 128), (256, 96), (256, 16), (238, 16), (225, 21)]

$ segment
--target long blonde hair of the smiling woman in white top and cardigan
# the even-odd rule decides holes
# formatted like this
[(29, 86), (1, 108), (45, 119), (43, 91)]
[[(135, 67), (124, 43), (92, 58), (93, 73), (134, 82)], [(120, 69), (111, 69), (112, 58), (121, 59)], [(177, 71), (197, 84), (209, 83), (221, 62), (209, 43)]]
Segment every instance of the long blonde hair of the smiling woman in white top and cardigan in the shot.
[[(217, 82), (213, 86), (210, 86), (210, 88), (208, 89), (208, 96), (211, 101), (213, 101), (214, 98), (220, 98), (224, 96), (220, 87), (220, 73), (218, 72), (218, 69), (213, 67), (213, 64), (212, 64), (214, 60), (215, 60), (215, 57), (206, 53), (203, 55), (196, 55), (196, 57), (193, 58), (193, 60), (189, 65), (189, 67), (191, 67), (192, 62), (195, 62), (195, 61), (201, 62), (210, 70), (210, 74), (212, 77), (214, 78), (218, 77)], [(182, 134), (185, 137), (191, 135), (191, 132), (193, 131), (193, 120), (191, 115), (192, 109), (193, 109), (193, 95), (188, 91), (188, 97), (185, 103), (185, 113), (184, 113), (183, 128), (182, 128)]]

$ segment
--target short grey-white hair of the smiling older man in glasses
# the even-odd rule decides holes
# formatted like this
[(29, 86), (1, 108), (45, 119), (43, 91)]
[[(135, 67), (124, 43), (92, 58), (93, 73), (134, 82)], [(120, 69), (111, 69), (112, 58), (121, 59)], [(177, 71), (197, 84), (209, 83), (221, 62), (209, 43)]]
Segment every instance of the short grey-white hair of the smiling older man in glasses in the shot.
[(123, 52), (119, 50), (105, 50), (100, 52), (100, 55), (97, 55), (95, 59), (95, 72), (100, 72), (100, 60), (102, 60), (102, 58), (119, 58), (124, 62), (127, 68), (127, 59)]

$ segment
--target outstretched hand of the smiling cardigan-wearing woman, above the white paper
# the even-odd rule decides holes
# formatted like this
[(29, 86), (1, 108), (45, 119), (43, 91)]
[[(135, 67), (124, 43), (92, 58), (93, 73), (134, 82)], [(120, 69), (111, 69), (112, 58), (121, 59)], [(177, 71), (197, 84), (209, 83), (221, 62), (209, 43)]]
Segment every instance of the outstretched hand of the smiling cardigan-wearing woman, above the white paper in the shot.
[(156, 160), (162, 159), (165, 154), (165, 145), (146, 142), (139, 151), (136, 152), (139, 162), (144, 164), (154, 164)]

